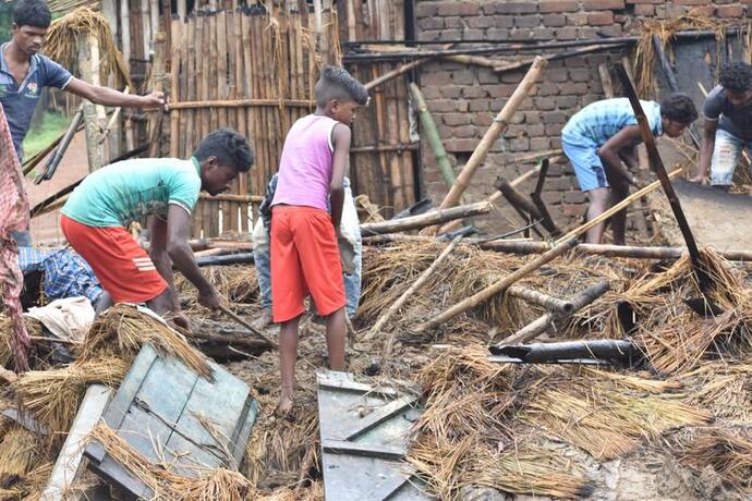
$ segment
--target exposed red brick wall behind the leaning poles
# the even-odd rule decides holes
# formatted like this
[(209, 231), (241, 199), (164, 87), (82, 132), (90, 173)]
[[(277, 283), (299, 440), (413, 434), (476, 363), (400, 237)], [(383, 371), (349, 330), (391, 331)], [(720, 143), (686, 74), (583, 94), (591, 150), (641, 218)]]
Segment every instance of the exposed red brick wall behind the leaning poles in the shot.
[[(422, 40), (555, 41), (635, 34), (641, 19), (671, 19), (694, 8), (709, 16), (745, 17), (748, 9), (752, 12), (750, 5), (752, 1), (733, 0), (419, 0), (416, 17)], [(468, 198), (477, 200), (492, 194), (499, 174), (511, 180), (524, 172), (529, 167), (516, 166), (516, 156), (558, 148), (567, 120), (583, 106), (604, 98), (598, 64), (619, 61), (623, 56), (618, 51), (598, 52), (549, 63), (509, 130), (476, 172)], [(422, 66), (421, 87), (454, 164), (464, 164), (523, 74), (496, 74), (490, 69), (450, 61)], [(438, 204), (447, 188), (427, 142), (423, 142), (422, 159), (425, 194)], [(527, 193), (532, 187), (529, 183), (522, 191)], [(551, 166), (544, 200), (561, 223), (582, 217), (585, 196), (568, 163)], [(520, 225), (517, 215), (507, 208), (502, 212), (494, 230)]]

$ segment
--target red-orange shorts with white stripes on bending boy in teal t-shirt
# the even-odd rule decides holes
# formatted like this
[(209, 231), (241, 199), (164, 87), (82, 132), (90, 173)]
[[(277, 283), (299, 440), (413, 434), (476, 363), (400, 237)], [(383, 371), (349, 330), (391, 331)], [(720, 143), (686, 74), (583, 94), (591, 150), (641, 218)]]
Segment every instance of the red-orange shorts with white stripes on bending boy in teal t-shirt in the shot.
[(167, 290), (151, 258), (123, 227), (87, 227), (65, 216), (60, 227), (116, 303), (144, 303)]

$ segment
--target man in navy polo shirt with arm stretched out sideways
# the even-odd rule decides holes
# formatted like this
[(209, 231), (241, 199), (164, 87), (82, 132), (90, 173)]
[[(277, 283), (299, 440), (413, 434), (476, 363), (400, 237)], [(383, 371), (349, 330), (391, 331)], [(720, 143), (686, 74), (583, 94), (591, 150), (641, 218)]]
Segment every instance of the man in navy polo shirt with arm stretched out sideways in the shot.
[[(51, 20), (44, 0), (20, 0), (13, 8), (12, 39), (0, 46), (0, 103), (5, 110), (19, 160), (23, 160), (22, 143), (45, 87), (57, 87), (104, 106), (146, 108), (165, 105), (162, 93), (135, 96), (92, 85), (39, 53)], [(32, 245), (28, 231), (13, 232), (13, 236), (19, 245)]]

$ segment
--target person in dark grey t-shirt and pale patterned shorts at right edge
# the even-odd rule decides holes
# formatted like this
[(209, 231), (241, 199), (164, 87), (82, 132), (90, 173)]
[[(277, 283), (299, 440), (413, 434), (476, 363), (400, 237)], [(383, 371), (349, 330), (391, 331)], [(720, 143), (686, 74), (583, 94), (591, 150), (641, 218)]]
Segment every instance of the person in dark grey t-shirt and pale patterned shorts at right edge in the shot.
[(742, 148), (752, 151), (752, 66), (742, 62), (726, 65), (720, 85), (705, 98), (705, 130), (700, 148), (698, 174), (702, 183), (711, 168), (711, 185), (728, 191)]

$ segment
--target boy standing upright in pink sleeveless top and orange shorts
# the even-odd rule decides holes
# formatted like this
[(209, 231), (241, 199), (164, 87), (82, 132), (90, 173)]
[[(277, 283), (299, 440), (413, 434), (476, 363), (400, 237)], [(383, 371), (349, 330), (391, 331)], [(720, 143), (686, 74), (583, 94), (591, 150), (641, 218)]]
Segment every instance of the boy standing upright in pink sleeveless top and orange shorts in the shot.
[(368, 91), (344, 69), (326, 66), (314, 93), (316, 111), (298, 120), (284, 139), (271, 201), (271, 308), (275, 322), (281, 323), (280, 414), (293, 407), (298, 323), (308, 294), (326, 318), (329, 368), (344, 370), (345, 297), (337, 236), (350, 124), (367, 103)]

